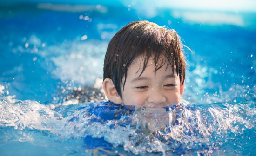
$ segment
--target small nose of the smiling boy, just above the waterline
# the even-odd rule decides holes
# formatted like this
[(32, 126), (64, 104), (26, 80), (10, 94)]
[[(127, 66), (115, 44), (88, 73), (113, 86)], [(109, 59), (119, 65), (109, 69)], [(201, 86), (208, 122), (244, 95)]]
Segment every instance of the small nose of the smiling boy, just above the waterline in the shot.
[(151, 104), (163, 104), (164, 102), (166, 102), (166, 97), (161, 91), (153, 89), (152, 91), (150, 91), (148, 102)]

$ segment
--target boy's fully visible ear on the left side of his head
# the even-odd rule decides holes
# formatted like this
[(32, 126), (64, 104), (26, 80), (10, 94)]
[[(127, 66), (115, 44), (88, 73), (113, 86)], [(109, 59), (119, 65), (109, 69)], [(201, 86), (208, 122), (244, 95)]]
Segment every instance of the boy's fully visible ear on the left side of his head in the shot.
[(118, 93), (115, 89), (115, 85), (113, 84), (112, 79), (110, 79), (110, 78), (104, 79), (103, 88), (104, 88), (106, 96), (108, 97), (108, 99), (110, 101), (112, 101), (115, 104), (121, 104), (122, 103), (122, 99), (118, 95)]

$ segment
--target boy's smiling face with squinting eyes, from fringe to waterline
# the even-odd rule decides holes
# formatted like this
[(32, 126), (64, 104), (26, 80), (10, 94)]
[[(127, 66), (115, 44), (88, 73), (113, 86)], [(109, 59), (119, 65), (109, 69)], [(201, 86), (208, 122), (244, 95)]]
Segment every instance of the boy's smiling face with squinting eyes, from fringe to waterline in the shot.
[[(164, 60), (165, 61), (165, 60)], [(143, 61), (141, 57), (129, 66), (125, 87), (121, 90), (122, 103), (143, 107), (165, 107), (179, 104), (183, 92), (176, 70), (165, 63), (155, 73), (155, 64), (149, 58), (145, 71), (141, 74)], [(141, 74), (141, 76), (139, 76)], [(123, 78), (124, 81), (124, 78)]]

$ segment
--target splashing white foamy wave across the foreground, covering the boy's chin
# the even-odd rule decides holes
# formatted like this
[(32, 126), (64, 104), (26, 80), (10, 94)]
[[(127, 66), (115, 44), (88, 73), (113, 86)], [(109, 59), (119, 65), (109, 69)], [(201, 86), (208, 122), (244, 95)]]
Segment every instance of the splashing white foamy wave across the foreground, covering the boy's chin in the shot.
[[(88, 137), (104, 138), (101, 142), (112, 146), (105, 147), (110, 153), (122, 147), (120, 154), (127, 151), (141, 155), (147, 155), (147, 152), (210, 154), (222, 153), (225, 146), (233, 142), (255, 146), (251, 142), (255, 140), (256, 123), (255, 103), (252, 101), (138, 110), (111, 103), (81, 103), (51, 110), (35, 101), (18, 101), (7, 96), (0, 98), (0, 112), (1, 129), (13, 127), (23, 131), (22, 137), (13, 136), (2, 143), (5, 140), (32, 142), (37, 135), (31, 135), (30, 131), (36, 130), (47, 134), (44, 137), (54, 137), (61, 144), (84, 139), (84, 143), (71, 146), (70, 150), (80, 150), (85, 146), (87, 152), (98, 149), (104, 153), (99, 149), (100, 145), (87, 142)], [(252, 134), (244, 135), (248, 131)], [(6, 133), (13, 133), (13, 130)]]

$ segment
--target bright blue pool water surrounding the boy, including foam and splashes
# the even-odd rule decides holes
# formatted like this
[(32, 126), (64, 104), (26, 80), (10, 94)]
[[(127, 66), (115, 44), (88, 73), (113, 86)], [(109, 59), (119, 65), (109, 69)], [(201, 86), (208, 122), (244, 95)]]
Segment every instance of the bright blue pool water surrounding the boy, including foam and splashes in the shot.
[[(135, 110), (101, 102), (108, 42), (136, 20), (174, 28), (193, 51), (189, 103)], [(1, 156), (256, 153), (254, 10), (13, 0), (0, 2), (0, 34)]]

